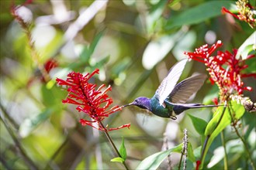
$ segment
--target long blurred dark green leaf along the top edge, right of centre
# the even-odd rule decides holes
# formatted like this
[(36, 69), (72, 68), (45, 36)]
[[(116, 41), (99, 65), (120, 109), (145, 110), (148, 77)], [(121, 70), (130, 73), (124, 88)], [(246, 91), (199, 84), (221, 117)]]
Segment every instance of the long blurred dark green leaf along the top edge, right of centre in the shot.
[(224, 6), (230, 9), (234, 5), (232, 1), (210, 1), (201, 5), (189, 8), (181, 12), (181, 15), (171, 17), (167, 22), (165, 29), (172, 29), (176, 26), (192, 25), (199, 22), (204, 22), (206, 19), (211, 19), (218, 15), (222, 15), (221, 8)]

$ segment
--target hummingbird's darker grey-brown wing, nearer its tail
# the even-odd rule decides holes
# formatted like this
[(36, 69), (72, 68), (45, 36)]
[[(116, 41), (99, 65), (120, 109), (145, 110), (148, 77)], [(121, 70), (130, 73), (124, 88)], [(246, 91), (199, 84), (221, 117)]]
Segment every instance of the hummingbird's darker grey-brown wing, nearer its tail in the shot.
[(168, 100), (174, 104), (185, 104), (189, 97), (202, 87), (206, 77), (205, 74), (198, 74), (181, 81), (171, 91)]

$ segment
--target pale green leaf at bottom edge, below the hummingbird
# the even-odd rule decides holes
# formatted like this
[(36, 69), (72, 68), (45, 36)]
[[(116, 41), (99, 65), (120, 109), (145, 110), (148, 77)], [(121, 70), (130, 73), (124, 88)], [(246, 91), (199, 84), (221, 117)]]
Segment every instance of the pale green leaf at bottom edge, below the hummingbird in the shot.
[(145, 158), (142, 162), (140, 162), (140, 165), (137, 166), (136, 169), (156, 169), (161, 162), (164, 161), (164, 158), (166, 158), (171, 152), (182, 152), (182, 144), (176, 146), (175, 148), (171, 148), (167, 151), (160, 151), (155, 153), (154, 155), (150, 155), (149, 157)]

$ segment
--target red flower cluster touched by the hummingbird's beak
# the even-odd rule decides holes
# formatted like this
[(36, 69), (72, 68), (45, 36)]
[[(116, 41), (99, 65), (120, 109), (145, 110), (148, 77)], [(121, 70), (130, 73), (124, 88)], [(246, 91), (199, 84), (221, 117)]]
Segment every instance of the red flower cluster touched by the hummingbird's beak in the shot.
[[(80, 119), (80, 123), (83, 126), (89, 125), (101, 131), (113, 131), (120, 128), (130, 128), (130, 124), (124, 124), (119, 128), (109, 129), (106, 129), (102, 125), (102, 121), (105, 119), (105, 117), (108, 117), (109, 114), (121, 110), (122, 107), (114, 106), (107, 110), (109, 105), (112, 104), (112, 98), (106, 94), (109, 90), (111, 90), (111, 87), (109, 86), (105, 90), (102, 90), (105, 87), (105, 85), (102, 84), (96, 90), (95, 84), (88, 83), (95, 73), (99, 73), (99, 70), (96, 69), (91, 74), (87, 73), (85, 76), (83, 76), (81, 73), (71, 72), (67, 74), (67, 80), (57, 78), (56, 81), (59, 85), (67, 86), (67, 99), (62, 100), (62, 103), (76, 104), (78, 105), (76, 109), (79, 112), (82, 111), (92, 118), (92, 121)], [(98, 127), (93, 125), (94, 123), (98, 124)]]

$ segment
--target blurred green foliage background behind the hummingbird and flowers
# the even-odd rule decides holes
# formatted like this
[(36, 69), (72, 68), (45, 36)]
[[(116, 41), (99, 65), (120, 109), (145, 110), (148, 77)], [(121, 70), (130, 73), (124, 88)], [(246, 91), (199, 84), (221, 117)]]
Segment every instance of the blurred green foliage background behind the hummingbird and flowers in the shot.
[[(254, 1), (250, 2), (255, 6)], [(44, 83), (31, 57), (26, 34), (9, 11), (12, 3), (21, 5), (24, 1), (0, 3), (1, 169), (123, 168), (110, 162), (115, 155), (106, 136), (91, 127), (82, 127), (78, 121), (83, 114), (75, 106), (61, 103), (67, 92), (56, 86), (56, 77), (65, 78), (71, 70), (86, 73), (99, 68), (95, 83), (112, 86), (109, 96), (113, 105), (128, 104), (136, 97), (152, 97), (171, 66), (185, 58), (185, 51), (219, 39), (223, 42), (222, 50), (231, 51), (254, 32), (247, 23), (221, 14), (221, 7), (232, 9), (234, 1), (34, 0), (19, 8), (20, 15), (30, 22), (39, 62), (43, 64), (53, 58), (59, 64), (50, 71), (52, 80)], [(255, 72), (255, 59), (247, 64)], [(187, 63), (181, 80), (196, 72), (206, 73), (206, 67), (193, 61)], [(244, 79), (244, 83), (254, 89), (244, 95), (255, 102), (255, 79)], [(217, 97), (217, 92), (217, 87), (207, 80), (190, 102), (213, 104), (211, 100)], [(186, 114), (209, 121), (212, 112), (197, 109)], [(118, 148), (122, 137), (125, 138), (127, 164), (136, 168), (140, 160), (161, 151), (164, 133), (169, 148), (182, 142), (185, 128), (192, 147), (201, 145), (186, 114), (172, 121), (144, 114), (137, 107), (126, 107), (112, 114), (104, 124), (118, 127), (131, 123), (130, 130), (109, 133)], [(245, 135), (251, 146), (256, 138), (254, 116), (247, 113), (241, 121), (249, 129)], [(231, 128), (225, 132), (227, 141), (235, 139)], [(219, 146), (220, 138), (216, 138), (207, 162)], [(230, 169), (246, 168), (243, 147), (232, 147)], [(255, 151), (253, 154), (255, 158)], [(173, 165), (178, 164), (179, 155), (171, 158)], [(189, 162), (188, 169), (192, 167)], [(220, 167), (223, 162), (208, 168)]]

